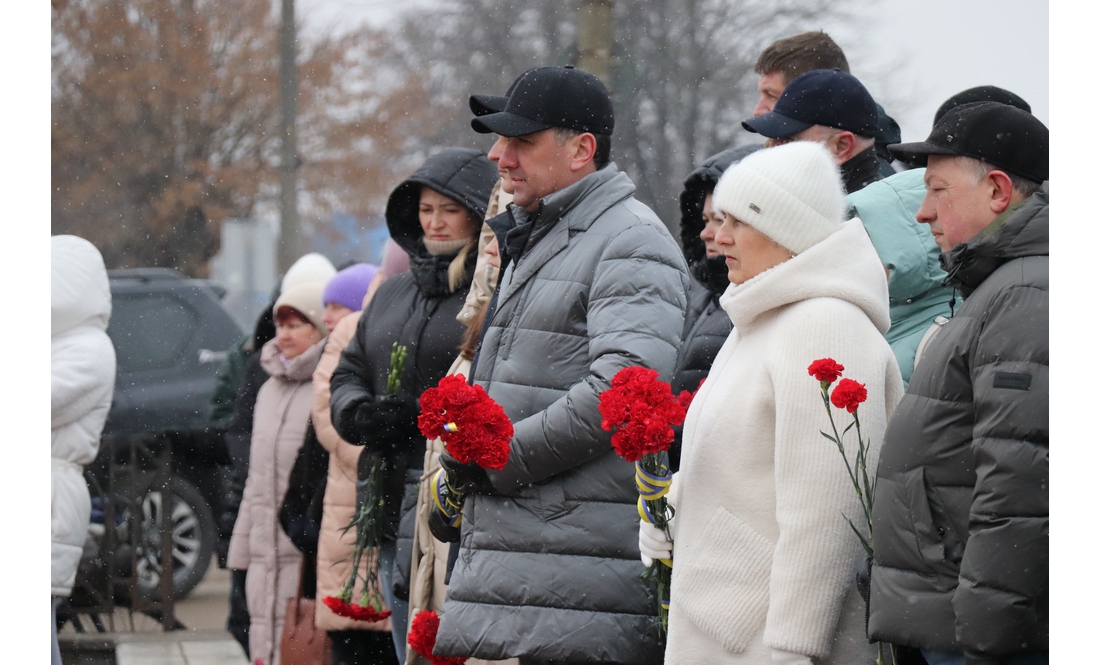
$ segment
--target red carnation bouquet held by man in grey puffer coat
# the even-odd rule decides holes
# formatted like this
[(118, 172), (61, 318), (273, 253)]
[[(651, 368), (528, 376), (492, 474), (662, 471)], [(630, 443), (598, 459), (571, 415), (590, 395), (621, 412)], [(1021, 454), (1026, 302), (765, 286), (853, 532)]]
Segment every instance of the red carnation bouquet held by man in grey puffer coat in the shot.
[[(444, 376), (424, 391), (417, 425), (428, 439), (442, 440), (460, 464), (496, 470), (508, 464), (515, 433), (512, 421), (484, 388), (471, 386), (461, 374)], [(448, 524), (462, 524), (465, 492), (450, 483), (443, 469), (431, 478), (431, 494)]]

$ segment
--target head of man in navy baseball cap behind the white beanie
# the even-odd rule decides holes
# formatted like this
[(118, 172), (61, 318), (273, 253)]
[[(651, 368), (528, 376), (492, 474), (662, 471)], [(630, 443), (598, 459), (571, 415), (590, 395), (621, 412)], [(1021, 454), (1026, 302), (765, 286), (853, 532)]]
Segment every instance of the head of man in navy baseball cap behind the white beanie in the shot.
[(875, 133), (875, 99), (859, 79), (839, 69), (814, 69), (796, 76), (768, 113), (741, 126), (768, 137), (766, 145), (814, 141), (825, 145), (840, 167), (848, 193), (882, 179)]

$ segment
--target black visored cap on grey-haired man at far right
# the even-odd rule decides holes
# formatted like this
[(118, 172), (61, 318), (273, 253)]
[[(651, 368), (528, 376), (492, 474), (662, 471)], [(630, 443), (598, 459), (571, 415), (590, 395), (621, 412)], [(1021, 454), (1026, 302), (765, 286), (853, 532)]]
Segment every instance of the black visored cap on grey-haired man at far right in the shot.
[(899, 160), (927, 166), (928, 155), (959, 155), (1044, 182), (1050, 173), (1050, 132), (1027, 111), (996, 101), (961, 104), (944, 113), (921, 143), (890, 146)]

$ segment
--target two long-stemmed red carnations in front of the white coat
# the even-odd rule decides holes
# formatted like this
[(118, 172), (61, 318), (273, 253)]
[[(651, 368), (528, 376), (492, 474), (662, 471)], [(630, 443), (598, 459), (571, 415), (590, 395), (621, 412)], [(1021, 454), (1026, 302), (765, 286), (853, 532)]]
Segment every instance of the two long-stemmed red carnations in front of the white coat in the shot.
[[(848, 478), (851, 480), (851, 486), (859, 498), (859, 506), (864, 511), (864, 522), (867, 525), (866, 534), (856, 528), (856, 523), (851, 521), (851, 518), (844, 516), (844, 519), (856, 533), (856, 537), (859, 539), (859, 543), (864, 546), (864, 551), (867, 552), (867, 556), (871, 557), (875, 554), (873, 541), (871, 540), (871, 508), (875, 505), (876, 477), (867, 473), (868, 444), (864, 441), (864, 433), (859, 429), (859, 404), (867, 401), (867, 385), (847, 378), (840, 379), (840, 375), (844, 374), (844, 365), (833, 358), (818, 358), (810, 364), (807, 372), (821, 385), (822, 402), (825, 404), (825, 412), (828, 413), (828, 423), (833, 429), (833, 434), (822, 432), (822, 436), (836, 444), (837, 450), (840, 451), (840, 457), (844, 458), (844, 466), (848, 469)], [(837, 381), (837, 379), (840, 380)], [(834, 383), (836, 383), (836, 387), (833, 387)], [(837, 430), (836, 421), (833, 420), (833, 407), (851, 413), (851, 423), (844, 429), (844, 432)], [(856, 429), (857, 448), (855, 461), (849, 461), (848, 453), (844, 447), (844, 435), (853, 428)], [(878, 652), (876, 663), (882, 665), (884, 660), (881, 642), (878, 643)], [(894, 653), (893, 645), (890, 645), (890, 654), (891, 662), (897, 663), (898, 656)]]

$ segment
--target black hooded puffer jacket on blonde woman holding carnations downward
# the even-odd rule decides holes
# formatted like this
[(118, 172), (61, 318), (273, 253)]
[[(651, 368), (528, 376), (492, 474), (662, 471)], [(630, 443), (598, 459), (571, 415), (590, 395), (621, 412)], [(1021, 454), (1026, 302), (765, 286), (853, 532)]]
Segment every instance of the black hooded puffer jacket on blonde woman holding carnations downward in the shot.
[[(416, 399), (447, 374), (465, 331), (455, 317), (465, 302), (477, 253), (466, 255), (463, 286), (451, 292), (447, 269), (454, 255), (432, 256), (421, 241), (424, 232), (417, 212), (420, 187), (428, 186), (464, 204), (474, 212), (480, 226), (496, 179), (496, 167), (483, 153), (448, 148), (429, 157), (389, 196), (386, 224), (394, 241), (408, 253), (409, 270), (391, 277), (378, 288), (332, 373), (332, 424), (345, 441), (362, 441), (354, 426), (355, 412), (364, 402), (385, 395), (389, 355), (395, 342), (408, 351), (400, 394)], [(424, 465), (425, 447), (426, 441), (419, 440), (416, 445), (387, 458), (385, 500), (392, 529), (397, 527), (398, 509), (405, 495), (410, 494), (413, 506), (416, 505), (417, 469)], [(361, 457), (370, 458), (371, 455), (364, 452)], [(413, 478), (411, 483), (408, 478)], [(407, 512), (411, 519), (411, 511)], [(410, 521), (408, 527), (411, 527)], [(404, 558), (411, 557), (408, 546), (411, 530), (407, 531), (405, 537), (409, 542), (405, 543)], [(397, 566), (407, 570), (409, 562), (400, 558), (402, 545), (399, 541)]]

